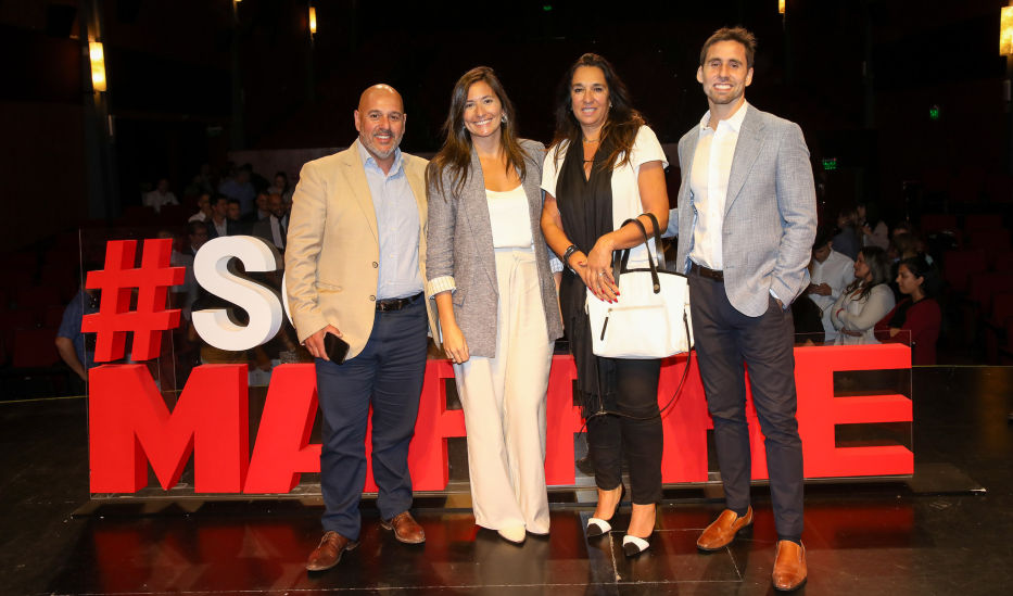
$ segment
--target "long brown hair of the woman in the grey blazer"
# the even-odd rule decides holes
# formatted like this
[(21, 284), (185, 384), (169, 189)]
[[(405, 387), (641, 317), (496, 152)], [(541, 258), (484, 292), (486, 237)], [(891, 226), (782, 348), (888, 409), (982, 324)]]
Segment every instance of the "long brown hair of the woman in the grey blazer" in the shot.
[(426, 186), (434, 188), (441, 193), (445, 192), (443, 188), (444, 170), (452, 173), (454, 178), (453, 192), (457, 193), (460, 192), (471, 169), (471, 134), (465, 127), (465, 104), (468, 102), (468, 90), (479, 81), (484, 81), (492, 88), (503, 106), (503, 115), (506, 119), (499, 124), (499, 143), (506, 154), (507, 172), (511, 167), (519, 169), (521, 179), (528, 174), (528, 168), (524, 165), (524, 152), (517, 141), (517, 118), (515, 117), (514, 104), (503, 89), (503, 84), (499, 83), (496, 73), (489, 66), (477, 66), (465, 73), (454, 85), (454, 90), (451, 92), (451, 111), (446, 116), (446, 122), (443, 123), (443, 132), (446, 135), (446, 140), (443, 141), (440, 152), (433, 156), (432, 161), (429, 162), (429, 167), (426, 168)]

